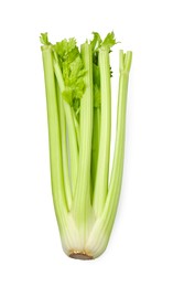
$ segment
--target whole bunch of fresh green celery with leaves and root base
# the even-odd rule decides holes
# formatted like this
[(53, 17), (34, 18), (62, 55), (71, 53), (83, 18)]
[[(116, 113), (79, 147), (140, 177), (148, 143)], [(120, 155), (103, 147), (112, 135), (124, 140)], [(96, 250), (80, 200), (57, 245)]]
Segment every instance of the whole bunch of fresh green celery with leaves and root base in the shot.
[(120, 195), (132, 53), (119, 52), (117, 136), (109, 181), (113, 32), (51, 44), (41, 34), (53, 201), (65, 253), (98, 257), (107, 247)]

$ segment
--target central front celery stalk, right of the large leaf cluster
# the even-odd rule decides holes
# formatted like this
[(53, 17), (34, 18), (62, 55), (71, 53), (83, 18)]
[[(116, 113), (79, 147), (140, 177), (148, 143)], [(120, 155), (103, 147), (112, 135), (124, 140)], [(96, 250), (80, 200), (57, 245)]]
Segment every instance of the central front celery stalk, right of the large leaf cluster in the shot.
[(74, 198), (74, 216), (85, 240), (88, 212), (90, 208), (90, 160), (91, 160), (91, 131), (93, 131), (93, 63), (91, 46), (88, 43), (82, 45), (82, 57), (85, 68), (86, 89), (80, 100), (79, 119), (79, 163)]

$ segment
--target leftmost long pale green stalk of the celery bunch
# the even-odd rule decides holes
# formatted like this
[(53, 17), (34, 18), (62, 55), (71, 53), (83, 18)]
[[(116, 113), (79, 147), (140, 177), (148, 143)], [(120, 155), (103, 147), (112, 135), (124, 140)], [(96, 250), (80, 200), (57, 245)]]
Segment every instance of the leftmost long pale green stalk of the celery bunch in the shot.
[(42, 47), (46, 106), (48, 119), (50, 162), (53, 200), (58, 225), (62, 226), (62, 216), (67, 211), (64, 194), (64, 177), (62, 169), (62, 152), (60, 139), (60, 119), (56, 97), (56, 85), (53, 70), (53, 56), (51, 46)]

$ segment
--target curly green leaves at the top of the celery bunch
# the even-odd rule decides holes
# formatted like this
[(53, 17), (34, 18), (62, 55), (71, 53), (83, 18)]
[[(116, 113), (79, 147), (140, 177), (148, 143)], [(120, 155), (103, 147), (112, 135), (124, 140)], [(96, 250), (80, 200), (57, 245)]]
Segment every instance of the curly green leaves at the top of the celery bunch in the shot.
[[(113, 32), (108, 33), (104, 41), (100, 34), (93, 32), (94, 39), (90, 41), (93, 49), (93, 77), (94, 77), (94, 107), (100, 107), (100, 73), (98, 65), (99, 50), (108, 50), (111, 52), (111, 46), (117, 42)], [(74, 108), (76, 115), (79, 111), (80, 98), (85, 91), (84, 75), (86, 73), (84, 63), (80, 56), (76, 40), (71, 38), (64, 39), (52, 45), (48, 41), (47, 33), (41, 33), (40, 41), (43, 44), (42, 49), (51, 46), (54, 52), (54, 59), (58, 62), (64, 79), (65, 89), (62, 95), (64, 99)], [(112, 75), (110, 68), (110, 76)]]

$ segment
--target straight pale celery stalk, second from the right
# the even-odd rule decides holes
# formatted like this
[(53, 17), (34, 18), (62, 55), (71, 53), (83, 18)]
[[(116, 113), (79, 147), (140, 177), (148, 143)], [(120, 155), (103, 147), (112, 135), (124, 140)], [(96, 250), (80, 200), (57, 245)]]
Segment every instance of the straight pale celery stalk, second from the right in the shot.
[(96, 216), (102, 213), (108, 192), (110, 130), (111, 130), (111, 88), (109, 49), (99, 51), (101, 120), (97, 173), (94, 190), (94, 210)]

